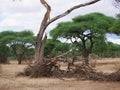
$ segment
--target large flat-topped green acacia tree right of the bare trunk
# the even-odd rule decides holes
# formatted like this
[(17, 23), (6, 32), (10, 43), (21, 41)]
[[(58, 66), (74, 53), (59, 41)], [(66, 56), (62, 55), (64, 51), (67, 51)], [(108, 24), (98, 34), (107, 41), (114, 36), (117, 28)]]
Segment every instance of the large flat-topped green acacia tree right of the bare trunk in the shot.
[[(70, 39), (78, 47), (84, 57), (84, 63), (89, 64), (88, 56), (92, 51), (95, 38), (105, 42), (105, 33), (113, 24), (114, 18), (101, 13), (90, 13), (84, 16), (77, 16), (72, 22), (62, 22), (51, 31), (51, 36)], [(101, 44), (100, 44), (101, 45)]]

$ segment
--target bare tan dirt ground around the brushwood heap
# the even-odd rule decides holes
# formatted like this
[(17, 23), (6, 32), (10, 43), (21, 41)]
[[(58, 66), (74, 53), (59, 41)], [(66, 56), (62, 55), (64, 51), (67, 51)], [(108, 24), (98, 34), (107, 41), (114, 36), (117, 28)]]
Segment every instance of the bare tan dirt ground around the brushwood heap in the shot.
[[(11, 64), (1, 66), (0, 90), (120, 90), (120, 82), (16, 77), (16, 73), (23, 71), (27, 65), (11, 62)], [(99, 59), (95, 68), (107, 73), (114, 72), (120, 69), (120, 58)]]

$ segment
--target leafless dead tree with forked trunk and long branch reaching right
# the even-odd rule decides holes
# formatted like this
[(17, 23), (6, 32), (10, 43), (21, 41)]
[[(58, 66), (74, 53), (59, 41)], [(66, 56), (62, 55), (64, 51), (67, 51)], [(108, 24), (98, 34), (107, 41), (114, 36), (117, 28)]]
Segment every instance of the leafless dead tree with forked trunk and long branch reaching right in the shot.
[(37, 40), (36, 40), (36, 46), (35, 46), (35, 60), (36, 60), (36, 62), (37, 63), (38, 62), (39, 63), (43, 62), (44, 47), (45, 47), (45, 42), (46, 42), (46, 39), (47, 39), (47, 35), (44, 36), (44, 32), (45, 32), (45, 30), (46, 30), (46, 28), (48, 27), (49, 24), (51, 24), (52, 22), (70, 14), (75, 9), (94, 4), (98, 1), (100, 1), (100, 0), (92, 0), (92, 1), (88, 1), (88, 2), (83, 3), (83, 4), (78, 4), (76, 6), (73, 6), (70, 9), (66, 10), (62, 14), (60, 14), (58, 16), (55, 16), (55, 17), (50, 19), (50, 12), (51, 12), (50, 5), (45, 0), (40, 0), (41, 4), (43, 4), (45, 6), (47, 11), (46, 11), (46, 13), (43, 17), (42, 23), (40, 25), (39, 32), (37, 34)]

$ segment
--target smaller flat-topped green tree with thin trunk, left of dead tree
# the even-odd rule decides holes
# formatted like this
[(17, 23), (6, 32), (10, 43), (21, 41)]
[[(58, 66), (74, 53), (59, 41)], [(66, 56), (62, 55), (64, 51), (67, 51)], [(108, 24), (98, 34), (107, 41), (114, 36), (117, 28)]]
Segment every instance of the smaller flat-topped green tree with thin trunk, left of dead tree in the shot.
[[(11, 48), (13, 55), (18, 60), (18, 64), (21, 64), (22, 59), (24, 59), (28, 53), (27, 51), (30, 47), (34, 46), (34, 44), (35, 37), (31, 31), (4, 31), (0, 33), (0, 45)], [(5, 51), (8, 52), (6, 49)], [(4, 55), (7, 55), (7, 53), (4, 53)]]

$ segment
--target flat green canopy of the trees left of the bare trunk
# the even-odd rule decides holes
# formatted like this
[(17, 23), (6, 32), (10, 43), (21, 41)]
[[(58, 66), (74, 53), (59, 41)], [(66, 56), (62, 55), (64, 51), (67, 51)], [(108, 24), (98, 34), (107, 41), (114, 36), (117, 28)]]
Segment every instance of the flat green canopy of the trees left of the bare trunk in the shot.
[(0, 44), (9, 44), (15, 42), (23, 42), (23, 43), (35, 43), (33, 42), (35, 37), (33, 36), (33, 32), (31, 31), (21, 31), (21, 32), (14, 32), (14, 31), (3, 31), (0, 33)]

